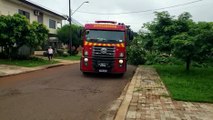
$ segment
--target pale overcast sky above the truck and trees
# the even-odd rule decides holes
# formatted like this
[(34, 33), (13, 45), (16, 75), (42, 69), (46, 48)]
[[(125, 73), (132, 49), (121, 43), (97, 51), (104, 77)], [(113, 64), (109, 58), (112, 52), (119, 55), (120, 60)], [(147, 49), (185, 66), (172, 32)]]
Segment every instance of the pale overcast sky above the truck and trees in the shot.
[[(45, 6), (60, 14), (68, 15), (69, 0), (30, 0), (39, 5)], [(78, 8), (86, 0), (71, 0), (72, 10)], [(183, 5), (189, 2), (193, 4)], [(143, 23), (154, 19), (154, 11), (131, 13), (134, 11), (146, 11), (158, 8), (180, 5), (179, 7), (167, 8), (159, 11), (169, 11), (171, 15), (179, 15), (183, 12), (190, 12), (195, 21), (213, 21), (213, 0), (89, 0), (89, 4), (84, 4), (73, 18), (81, 24), (93, 22), (95, 20), (113, 20), (131, 25), (131, 28), (137, 32)], [(96, 15), (89, 13), (131, 13), (116, 15)]]

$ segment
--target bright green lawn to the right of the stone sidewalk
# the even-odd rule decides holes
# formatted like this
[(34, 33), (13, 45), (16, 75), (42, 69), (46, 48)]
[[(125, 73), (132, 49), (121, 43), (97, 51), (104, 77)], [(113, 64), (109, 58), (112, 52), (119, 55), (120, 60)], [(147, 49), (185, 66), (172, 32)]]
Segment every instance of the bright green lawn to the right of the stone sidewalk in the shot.
[(213, 102), (213, 68), (154, 65), (161, 79), (176, 100)]

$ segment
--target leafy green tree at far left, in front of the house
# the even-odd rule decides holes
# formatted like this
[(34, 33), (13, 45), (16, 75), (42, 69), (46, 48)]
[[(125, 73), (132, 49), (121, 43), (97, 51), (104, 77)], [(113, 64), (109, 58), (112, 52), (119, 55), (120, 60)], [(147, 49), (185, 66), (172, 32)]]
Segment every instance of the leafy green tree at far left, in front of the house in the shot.
[(30, 23), (26, 17), (19, 14), (15, 14), (14, 16), (1, 16), (0, 19), (0, 44), (4, 47), (8, 57), (11, 57), (12, 52), (14, 55), (14, 52), (17, 52), (20, 45), (27, 42)]

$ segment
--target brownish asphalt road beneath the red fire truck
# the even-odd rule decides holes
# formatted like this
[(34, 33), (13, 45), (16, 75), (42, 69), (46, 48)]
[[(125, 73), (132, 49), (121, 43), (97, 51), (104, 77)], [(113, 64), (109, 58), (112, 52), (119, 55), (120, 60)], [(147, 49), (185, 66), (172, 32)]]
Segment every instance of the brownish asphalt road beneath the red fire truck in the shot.
[(74, 64), (0, 78), (0, 120), (99, 120), (134, 70), (83, 76)]

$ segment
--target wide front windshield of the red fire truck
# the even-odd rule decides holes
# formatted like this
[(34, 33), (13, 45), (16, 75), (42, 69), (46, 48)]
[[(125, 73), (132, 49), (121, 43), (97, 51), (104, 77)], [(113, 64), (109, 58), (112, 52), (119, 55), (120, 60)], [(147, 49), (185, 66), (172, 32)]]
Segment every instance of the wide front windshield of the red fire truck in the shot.
[(121, 43), (124, 31), (86, 30), (86, 39), (90, 42)]

